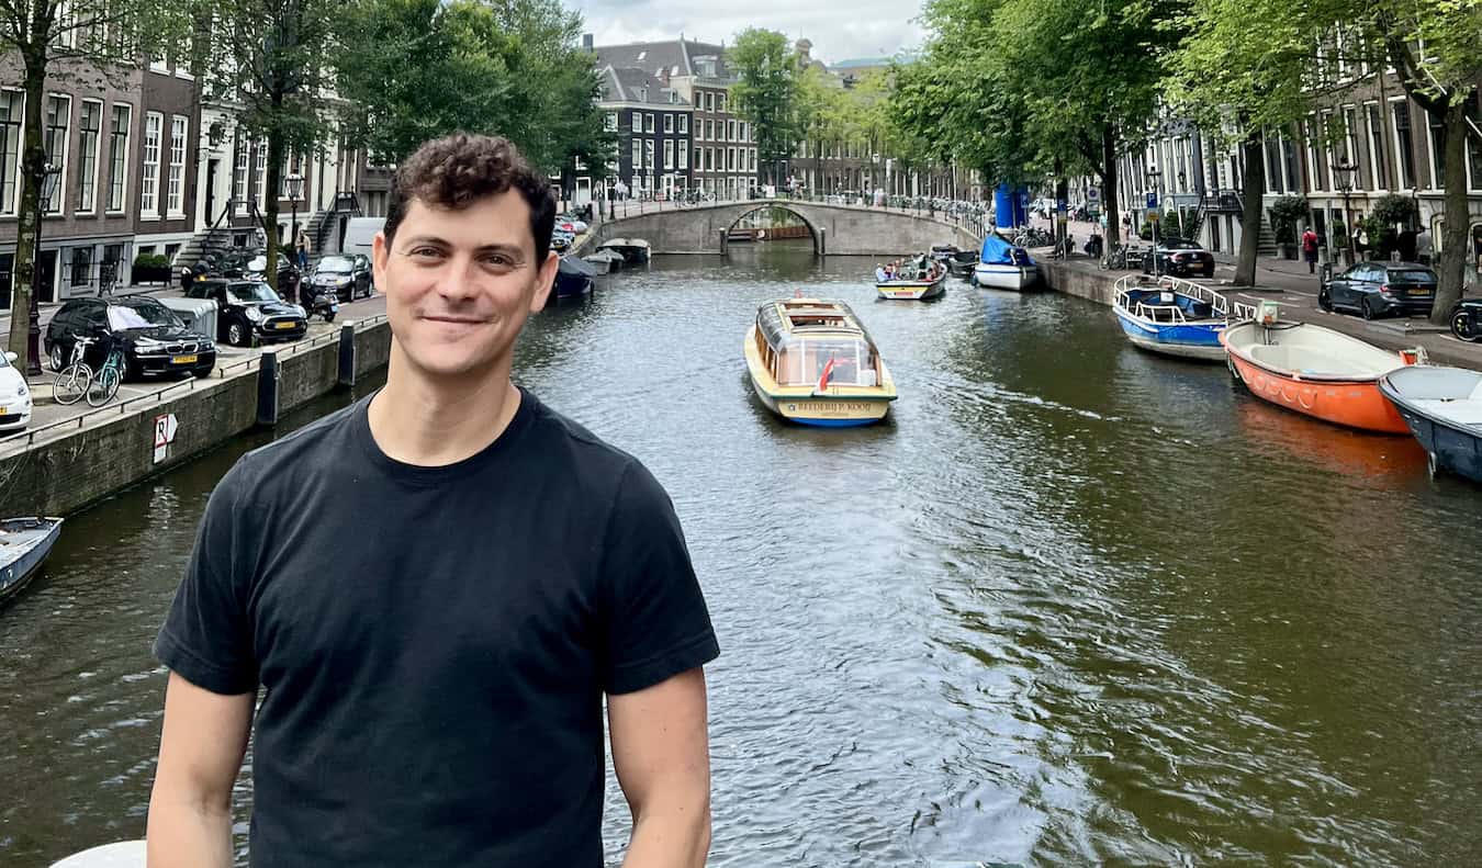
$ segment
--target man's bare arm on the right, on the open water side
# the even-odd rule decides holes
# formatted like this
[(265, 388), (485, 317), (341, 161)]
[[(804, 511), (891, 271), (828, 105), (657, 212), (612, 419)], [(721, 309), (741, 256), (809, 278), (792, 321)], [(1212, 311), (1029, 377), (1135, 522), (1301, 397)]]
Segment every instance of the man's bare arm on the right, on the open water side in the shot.
[(710, 852), (710, 736), (700, 667), (608, 696), (612, 764), (633, 812), (624, 868), (700, 868)]

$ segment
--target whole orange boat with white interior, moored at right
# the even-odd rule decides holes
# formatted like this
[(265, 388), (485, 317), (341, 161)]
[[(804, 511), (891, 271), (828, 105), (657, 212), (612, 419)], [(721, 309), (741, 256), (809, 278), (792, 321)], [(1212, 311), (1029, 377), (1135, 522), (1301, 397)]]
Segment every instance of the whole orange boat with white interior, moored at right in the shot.
[(1380, 394), (1386, 373), (1414, 363), (1312, 323), (1240, 323), (1220, 333), (1230, 372), (1260, 398), (1325, 422), (1408, 434), (1395, 404)]

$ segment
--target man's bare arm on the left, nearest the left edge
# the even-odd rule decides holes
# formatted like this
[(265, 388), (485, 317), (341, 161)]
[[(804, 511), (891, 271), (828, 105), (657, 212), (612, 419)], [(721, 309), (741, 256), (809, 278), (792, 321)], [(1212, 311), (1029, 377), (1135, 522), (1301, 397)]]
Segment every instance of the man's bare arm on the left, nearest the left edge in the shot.
[(231, 785), (255, 699), (212, 693), (170, 672), (150, 794), (148, 868), (231, 868)]

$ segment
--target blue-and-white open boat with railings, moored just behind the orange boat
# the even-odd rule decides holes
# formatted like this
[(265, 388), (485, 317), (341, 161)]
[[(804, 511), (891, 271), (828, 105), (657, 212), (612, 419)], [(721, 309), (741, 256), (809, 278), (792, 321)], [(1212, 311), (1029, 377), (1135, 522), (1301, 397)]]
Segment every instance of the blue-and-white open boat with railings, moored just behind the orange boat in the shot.
[(1255, 307), (1177, 277), (1156, 284), (1131, 276), (1117, 280), (1112, 311), (1134, 347), (1205, 361), (1224, 361), (1220, 332), (1232, 318), (1255, 318)]

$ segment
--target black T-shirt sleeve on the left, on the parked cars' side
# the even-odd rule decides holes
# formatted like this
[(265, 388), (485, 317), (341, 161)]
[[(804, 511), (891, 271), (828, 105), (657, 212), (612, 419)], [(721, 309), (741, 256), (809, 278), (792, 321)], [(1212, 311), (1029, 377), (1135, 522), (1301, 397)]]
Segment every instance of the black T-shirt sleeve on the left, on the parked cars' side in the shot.
[(197, 687), (228, 696), (258, 689), (246, 604), (250, 582), (240, 567), (246, 558), (237, 557), (245, 475), (239, 461), (210, 493), (185, 578), (154, 640), (162, 664)]

